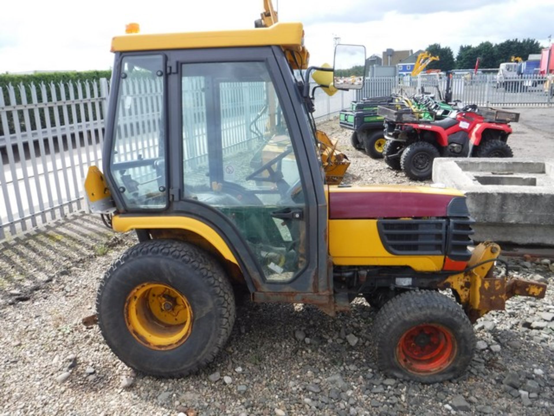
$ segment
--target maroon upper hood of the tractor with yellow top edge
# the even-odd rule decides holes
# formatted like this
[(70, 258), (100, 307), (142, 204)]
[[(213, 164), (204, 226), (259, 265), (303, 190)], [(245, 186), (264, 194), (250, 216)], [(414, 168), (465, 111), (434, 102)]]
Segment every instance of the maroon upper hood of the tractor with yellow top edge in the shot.
[(429, 186), (329, 186), (329, 219), (467, 216), (464, 194)]

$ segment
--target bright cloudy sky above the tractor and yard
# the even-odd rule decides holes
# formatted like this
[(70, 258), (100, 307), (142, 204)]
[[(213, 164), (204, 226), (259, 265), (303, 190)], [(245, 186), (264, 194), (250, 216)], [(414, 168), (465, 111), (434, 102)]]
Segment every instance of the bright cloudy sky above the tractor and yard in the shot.
[[(273, 0), (279, 21), (304, 23), (310, 63), (332, 64), (333, 38), (363, 44), (367, 56), (387, 48), (554, 35), (554, 0)], [(3, 0), (0, 73), (111, 68), (110, 42), (137, 22), (141, 33), (252, 28), (262, 0)]]

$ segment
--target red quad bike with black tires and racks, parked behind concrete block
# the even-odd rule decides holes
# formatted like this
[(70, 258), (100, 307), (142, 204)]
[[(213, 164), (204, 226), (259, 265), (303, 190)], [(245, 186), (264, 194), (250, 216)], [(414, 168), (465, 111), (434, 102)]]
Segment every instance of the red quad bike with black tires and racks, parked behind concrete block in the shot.
[(439, 156), (513, 156), (506, 142), (512, 133), (509, 123), (518, 121), (519, 113), (471, 104), (443, 120), (424, 121), (410, 111), (379, 109), (385, 118), (384, 161), (410, 179), (429, 179)]

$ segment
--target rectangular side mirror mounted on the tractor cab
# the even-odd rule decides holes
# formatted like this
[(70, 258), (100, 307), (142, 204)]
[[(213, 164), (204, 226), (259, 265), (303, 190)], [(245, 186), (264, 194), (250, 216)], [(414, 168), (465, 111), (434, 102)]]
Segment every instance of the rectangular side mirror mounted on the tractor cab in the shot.
[(336, 89), (361, 89), (366, 75), (366, 47), (336, 45), (333, 74)]

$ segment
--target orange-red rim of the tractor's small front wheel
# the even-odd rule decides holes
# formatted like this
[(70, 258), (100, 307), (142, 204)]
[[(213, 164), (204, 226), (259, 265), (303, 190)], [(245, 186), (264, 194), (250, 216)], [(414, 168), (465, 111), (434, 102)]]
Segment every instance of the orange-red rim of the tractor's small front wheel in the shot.
[(396, 347), (399, 364), (415, 374), (435, 374), (454, 361), (456, 341), (449, 329), (423, 324), (404, 332)]

